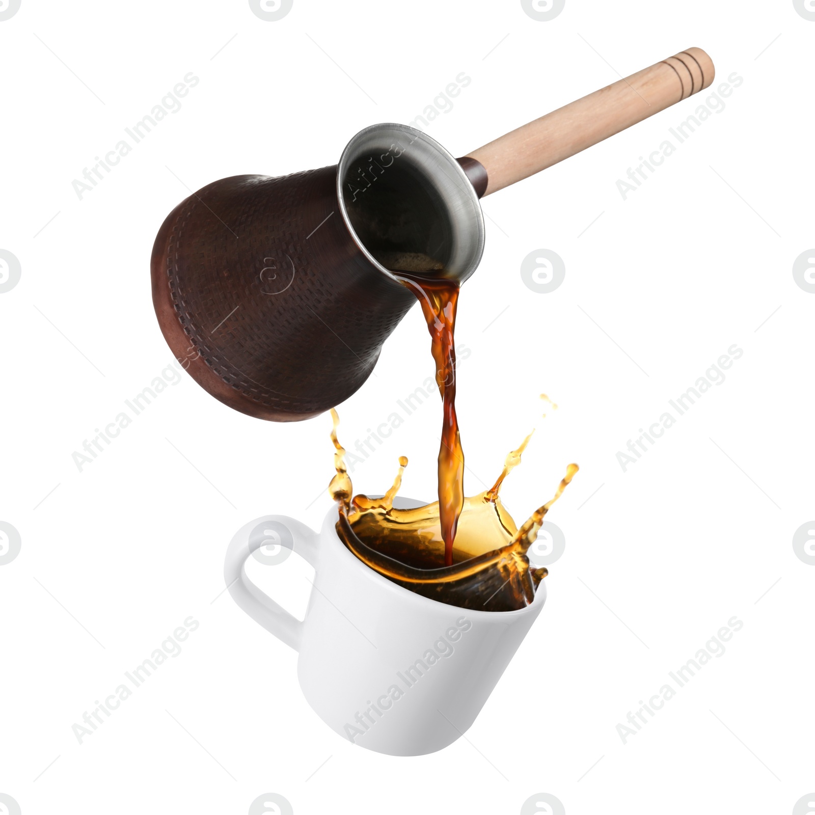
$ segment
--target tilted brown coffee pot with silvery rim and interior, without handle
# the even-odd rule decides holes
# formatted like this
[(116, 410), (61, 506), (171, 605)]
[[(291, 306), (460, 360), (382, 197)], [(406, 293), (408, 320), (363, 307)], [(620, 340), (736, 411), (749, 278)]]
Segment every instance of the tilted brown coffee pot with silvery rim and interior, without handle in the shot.
[(434, 252), (463, 280), (482, 246), (478, 195), (456, 160), (421, 131), (375, 126), (339, 165), (222, 178), (183, 200), (156, 236), (153, 302), (205, 390), (297, 421), (358, 390), (416, 302), (371, 250)]

